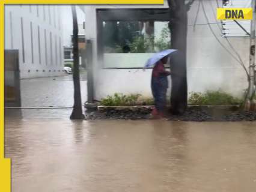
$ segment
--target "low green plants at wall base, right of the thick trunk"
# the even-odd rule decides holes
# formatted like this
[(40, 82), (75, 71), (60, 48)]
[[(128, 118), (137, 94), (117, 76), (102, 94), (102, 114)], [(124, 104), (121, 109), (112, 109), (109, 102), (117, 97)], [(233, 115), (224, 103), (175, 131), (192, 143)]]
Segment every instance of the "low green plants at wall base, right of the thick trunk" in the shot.
[(230, 94), (227, 94), (222, 91), (206, 91), (205, 93), (201, 92), (192, 92), (190, 94), (189, 104), (209, 104), (209, 105), (225, 105), (225, 104), (241, 104), (242, 100), (239, 98), (233, 97)]

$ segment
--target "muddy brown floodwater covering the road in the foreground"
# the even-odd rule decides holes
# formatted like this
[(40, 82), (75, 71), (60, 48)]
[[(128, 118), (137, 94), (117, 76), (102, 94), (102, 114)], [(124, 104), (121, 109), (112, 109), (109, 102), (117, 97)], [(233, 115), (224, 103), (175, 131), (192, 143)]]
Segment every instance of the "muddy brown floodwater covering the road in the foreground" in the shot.
[(256, 122), (5, 121), (12, 191), (255, 191)]

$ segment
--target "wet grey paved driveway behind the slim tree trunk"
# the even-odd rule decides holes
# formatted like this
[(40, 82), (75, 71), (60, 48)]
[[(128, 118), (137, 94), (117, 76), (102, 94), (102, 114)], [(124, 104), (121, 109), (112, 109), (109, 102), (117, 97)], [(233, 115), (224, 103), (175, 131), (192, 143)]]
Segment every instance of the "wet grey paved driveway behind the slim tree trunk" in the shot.
[[(82, 103), (87, 101), (87, 74), (81, 72)], [(20, 80), (22, 107), (72, 107), (73, 76)]]

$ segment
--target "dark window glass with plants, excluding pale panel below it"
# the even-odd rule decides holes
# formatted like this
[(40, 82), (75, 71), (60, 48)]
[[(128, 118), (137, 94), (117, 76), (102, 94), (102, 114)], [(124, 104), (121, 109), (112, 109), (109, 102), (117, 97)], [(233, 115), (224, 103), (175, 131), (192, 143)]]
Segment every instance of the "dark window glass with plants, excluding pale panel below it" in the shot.
[(169, 49), (168, 22), (103, 22), (104, 53), (154, 53)]

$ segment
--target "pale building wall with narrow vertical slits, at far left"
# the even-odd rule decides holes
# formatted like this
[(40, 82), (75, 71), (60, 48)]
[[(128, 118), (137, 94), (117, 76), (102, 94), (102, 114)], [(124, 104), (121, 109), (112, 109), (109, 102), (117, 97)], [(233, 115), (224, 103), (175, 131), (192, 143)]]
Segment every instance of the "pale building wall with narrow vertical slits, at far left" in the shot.
[(56, 5), (5, 5), (5, 49), (19, 50), (21, 78), (58, 76), (63, 73), (60, 18), (61, 11)]

